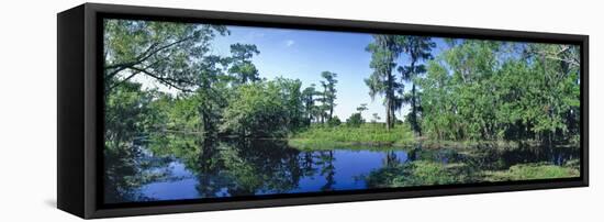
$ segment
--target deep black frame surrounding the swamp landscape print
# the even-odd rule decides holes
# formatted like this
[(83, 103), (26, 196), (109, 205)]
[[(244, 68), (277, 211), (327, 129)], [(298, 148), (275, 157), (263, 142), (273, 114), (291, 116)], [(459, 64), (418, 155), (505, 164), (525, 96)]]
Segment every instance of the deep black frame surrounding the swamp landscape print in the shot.
[[(581, 46), (581, 176), (505, 182), (269, 195), (136, 203), (102, 202), (104, 101), (102, 21), (220, 23), (361, 33), (412, 34)], [(85, 3), (57, 15), (57, 207), (85, 219), (383, 200), (589, 186), (589, 36), (385, 22)]]

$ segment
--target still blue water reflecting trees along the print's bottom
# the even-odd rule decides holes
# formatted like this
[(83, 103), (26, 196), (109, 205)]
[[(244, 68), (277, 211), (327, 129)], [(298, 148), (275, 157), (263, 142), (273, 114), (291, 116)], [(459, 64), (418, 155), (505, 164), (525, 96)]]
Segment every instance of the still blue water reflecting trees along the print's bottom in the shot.
[(473, 148), (338, 147), (299, 151), (284, 141), (198, 142), (178, 136), (135, 140), (118, 154), (105, 152), (105, 202), (182, 200), (371, 188), (372, 171), (423, 160), (463, 163), (479, 170), (522, 163), (562, 165), (578, 158), (568, 148), (508, 152)]

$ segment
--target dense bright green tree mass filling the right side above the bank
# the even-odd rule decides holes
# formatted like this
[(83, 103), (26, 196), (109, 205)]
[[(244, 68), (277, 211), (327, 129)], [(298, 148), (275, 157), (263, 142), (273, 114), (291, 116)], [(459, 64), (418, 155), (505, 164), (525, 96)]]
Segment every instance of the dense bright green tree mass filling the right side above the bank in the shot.
[(579, 133), (579, 70), (567, 54), (575, 49), (458, 42), (416, 79), (422, 125), (437, 140), (572, 141)]

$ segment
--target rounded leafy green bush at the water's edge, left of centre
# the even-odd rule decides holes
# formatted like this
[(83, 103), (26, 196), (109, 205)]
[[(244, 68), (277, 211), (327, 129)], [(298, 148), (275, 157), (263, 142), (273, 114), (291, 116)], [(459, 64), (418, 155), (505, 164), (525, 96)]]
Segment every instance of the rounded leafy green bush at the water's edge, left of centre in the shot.
[(284, 137), (304, 121), (298, 79), (277, 78), (234, 88), (221, 120), (221, 132), (242, 137)]

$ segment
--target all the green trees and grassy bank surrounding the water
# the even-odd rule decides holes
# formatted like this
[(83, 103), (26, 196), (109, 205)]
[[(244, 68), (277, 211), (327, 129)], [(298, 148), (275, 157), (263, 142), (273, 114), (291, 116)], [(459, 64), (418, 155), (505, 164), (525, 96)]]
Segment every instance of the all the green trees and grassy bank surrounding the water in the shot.
[[(109, 181), (141, 187), (153, 180), (127, 179), (143, 171), (124, 170), (125, 166), (141, 168), (139, 163), (128, 159), (134, 158), (133, 146), (138, 143), (156, 155), (192, 159), (192, 164), (184, 160), (189, 168), (209, 164), (199, 163), (203, 162), (200, 156), (208, 153), (208, 147), (220, 145), (206, 144), (224, 140), (247, 144), (232, 145), (237, 149), (268, 140), (313, 153), (359, 146), (383, 152), (486, 146), (495, 153), (518, 147), (579, 147), (581, 60), (577, 45), (370, 35), (370, 43), (357, 48), (370, 55), (366, 66), (371, 70), (359, 79), (365, 88), (358, 90), (381, 106), (383, 114), (363, 118), (368, 112), (366, 102), (359, 102), (349, 116), (338, 116), (334, 111), (340, 106), (338, 87), (347, 78), (346, 73), (326, 68), (304, 74), (321, 79), (316, 82), (266, 78), (255, 64), (262, 53), (255, 44), (231, 44), (228, 55), (212, 53), (213, 42), (230, 34), (224, 25), (104, 21), (104, 155)], [(146, 87), (149, 82), (155, 87)], [(187, 140), (177, 140), (175, 134)], [(197, 152), (186, 144), (194, 144)], [(323, 160), (334, 157), (333, 153), (321, 154)], [(570, 156), (570, 160), (578, 157)], [(225, 163), (239, 158), (214, 157)], [(535, 163), (539, 160), (518, 164)], [(447, 173), (450, 167), (420, 160), (372, 170), (366, 175), (367, 185), (468, 181), (395, 182), (401, 175), (413, 178), (407, 173), (414, 167), (433, 167), (427, 175), (441, 175), (440, 179), (452, 174)], [(522, 167), (526, 166), (515, 166)], [(530, 170), (544, 167), (555, 167), (561, 177), (578, 174), (575, 168), (550, 165)], [(513, 166), (497, 170), (490, 169), (495, 171), (491, 175), (502, 179), (502, 170), (512, 171)], [(127, 181), (119, 179), (123, 174), (130, 174)], [(388, 175), (391, 178), (384, 179)], [(293, 189), (295, 184), (290, 187)], [(112, 193), (120, 192), (113, 189)], [(254, 190), (246, 193), (254, 195)]]

